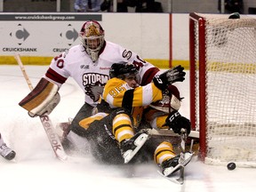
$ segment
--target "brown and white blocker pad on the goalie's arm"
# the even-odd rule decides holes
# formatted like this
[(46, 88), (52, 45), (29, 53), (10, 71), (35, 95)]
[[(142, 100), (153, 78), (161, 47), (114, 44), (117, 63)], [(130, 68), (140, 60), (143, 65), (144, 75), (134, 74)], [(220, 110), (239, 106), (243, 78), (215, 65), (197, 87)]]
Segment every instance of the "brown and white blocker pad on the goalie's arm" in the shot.
[(28, 110), (29, 116), (49, 115), (60, 102), (58, 90), (57, 84), (41, 78), (36, 87), (20, 101), (19, 105)]

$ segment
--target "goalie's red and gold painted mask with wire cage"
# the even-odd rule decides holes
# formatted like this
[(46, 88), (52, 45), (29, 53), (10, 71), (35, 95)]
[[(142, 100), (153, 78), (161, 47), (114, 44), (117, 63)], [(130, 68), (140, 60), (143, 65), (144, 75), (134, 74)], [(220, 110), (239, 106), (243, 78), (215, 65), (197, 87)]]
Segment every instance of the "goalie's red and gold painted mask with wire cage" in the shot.
[(100, 49), (104, 45), (104, 30), (100, 23), (95, 20), (86, 21), (81, 28), (80, 37), (85, 51), (89, 54), (92, 61), (99, 58)]

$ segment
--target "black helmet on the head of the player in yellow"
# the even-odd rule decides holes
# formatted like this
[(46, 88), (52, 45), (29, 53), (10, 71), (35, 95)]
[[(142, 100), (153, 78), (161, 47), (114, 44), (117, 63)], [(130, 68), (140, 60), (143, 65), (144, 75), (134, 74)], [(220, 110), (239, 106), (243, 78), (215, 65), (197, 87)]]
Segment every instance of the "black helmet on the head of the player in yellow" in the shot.
[(139, 81), (138, 70), (128, 62), (114, 63), (109, 70), (110, 78), (117, 77), (124, 80), (125, 77), (131, 75), (135, 75), (136, 81)]

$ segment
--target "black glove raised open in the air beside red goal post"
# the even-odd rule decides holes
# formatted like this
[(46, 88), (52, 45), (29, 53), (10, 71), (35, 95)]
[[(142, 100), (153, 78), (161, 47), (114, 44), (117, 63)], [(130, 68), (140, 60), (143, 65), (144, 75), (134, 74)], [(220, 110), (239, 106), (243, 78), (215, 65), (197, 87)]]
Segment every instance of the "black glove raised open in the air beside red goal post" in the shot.
[(184, 68), (181, 66), (177, 66), (175, 68), (171, 68), (165, 71), (163, 74), (159, 76), (155, 76), (153, 78), (153, 82), (156, 87), (162, 91), (164, 91), (169, 84), (173, 84), (175, 82), (183, 82), (185, 79), (186, 73), (183, 71)]

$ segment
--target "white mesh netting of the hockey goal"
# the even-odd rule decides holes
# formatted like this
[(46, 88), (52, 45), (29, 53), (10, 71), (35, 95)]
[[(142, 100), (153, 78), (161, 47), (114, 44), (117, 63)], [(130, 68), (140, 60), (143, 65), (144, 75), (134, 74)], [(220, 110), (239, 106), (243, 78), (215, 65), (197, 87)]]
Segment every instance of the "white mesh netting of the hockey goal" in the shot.
[[(239, 164), (252, 166), (256, 164), (256, 20), (248, 17), (228, 20), (227, 15), (200, 16), (206, 20), (205, 162), (242, 162)], [(196, 60), (199, 60), (197, 31)], [(198, 114), (199, 101), (196, 103)]]

